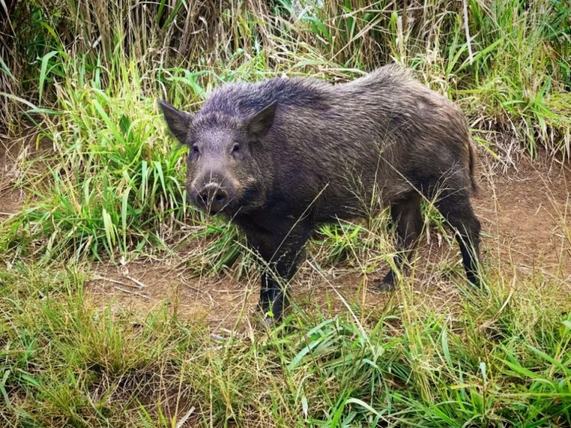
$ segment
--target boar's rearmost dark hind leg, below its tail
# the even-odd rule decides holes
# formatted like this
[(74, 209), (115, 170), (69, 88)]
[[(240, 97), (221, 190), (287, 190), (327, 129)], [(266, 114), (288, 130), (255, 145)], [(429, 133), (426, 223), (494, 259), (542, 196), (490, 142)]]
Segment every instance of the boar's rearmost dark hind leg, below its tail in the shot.
[(466, 276), (474, 285), (480, 285), (477, 265), (480, 258), (480, 221), (476, 218), (468, 195), (455, 193), (436, 202), (436, 207), (454, 229), (460, 245)]

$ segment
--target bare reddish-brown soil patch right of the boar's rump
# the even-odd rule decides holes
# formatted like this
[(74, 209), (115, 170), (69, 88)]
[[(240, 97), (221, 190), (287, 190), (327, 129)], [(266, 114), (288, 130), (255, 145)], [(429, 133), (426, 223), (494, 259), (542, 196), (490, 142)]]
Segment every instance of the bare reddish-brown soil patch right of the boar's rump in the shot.
[(487, 173), (474, 205), (489, 263), (571, 282), (569, 165), (524, 159), (506, 174)]

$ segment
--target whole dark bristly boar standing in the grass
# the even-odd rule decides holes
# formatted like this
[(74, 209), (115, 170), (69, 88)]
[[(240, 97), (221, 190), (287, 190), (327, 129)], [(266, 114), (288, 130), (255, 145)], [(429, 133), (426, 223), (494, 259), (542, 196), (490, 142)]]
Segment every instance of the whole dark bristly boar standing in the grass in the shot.
[[(420, 200), (435, 200), (477, 284), (468, 124), (454, 103), (403, 69), (385, 66), (335, 86), (309, 78), (228, 84), (194, 116), (160, 105), (190, 147), (191, 202), (236, 222), (271, 267), (260, 305), (274, 320), (315, 225), (371, 215), (373, 205), (390, 206), (400, 253), (408, 254), (423, 226)], [(390, 270), (383, 282), (394, 280)]]

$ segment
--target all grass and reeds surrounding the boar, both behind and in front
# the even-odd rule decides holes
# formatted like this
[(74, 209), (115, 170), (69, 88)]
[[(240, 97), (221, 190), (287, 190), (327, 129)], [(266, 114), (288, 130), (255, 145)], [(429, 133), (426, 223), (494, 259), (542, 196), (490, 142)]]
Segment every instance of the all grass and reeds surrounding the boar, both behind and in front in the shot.
[[(176, 301), (96, 304), (88, 287), (102, 265), (173, 258), (256, 287), (239, 233), (186, 205), (157, 98), (194, 111), (228, 81), (398, 62), (463, 108), (486, 173), (568, 168), (569, 1), (0, 0), (0, 31), (0, 193), (25, 196), (0, 206), (2, 426), (571, 426), (568, 278), (510, 258), (487, 257), (482, 291), (434, 267), (453, 305), (425, 305), (413, 274), (375, 310), (331, 287), (271, 332), (247, 313), (213, 332)], [(390, 263), (386, 223), (322, 228), (305, 271), (349, 266), (366, 287)]]

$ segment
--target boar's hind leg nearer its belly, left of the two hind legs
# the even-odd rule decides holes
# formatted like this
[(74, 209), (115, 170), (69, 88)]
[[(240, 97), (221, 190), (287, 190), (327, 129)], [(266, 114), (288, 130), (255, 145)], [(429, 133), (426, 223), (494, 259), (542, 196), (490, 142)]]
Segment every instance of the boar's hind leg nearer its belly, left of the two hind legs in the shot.
[[(390, 217), (397, 228), (397, 250), (395, 267), (403, 268), (405, 257), (410, 260), (410, 255), (423, 230), (423, 217), (420, 213), (420, 195), (410, 193), (408, 198), (398, 200), (390, 205)], [(383, 290), (391, 290), (395, 285), (395, 271), (391, 268), (380, 283)]]

